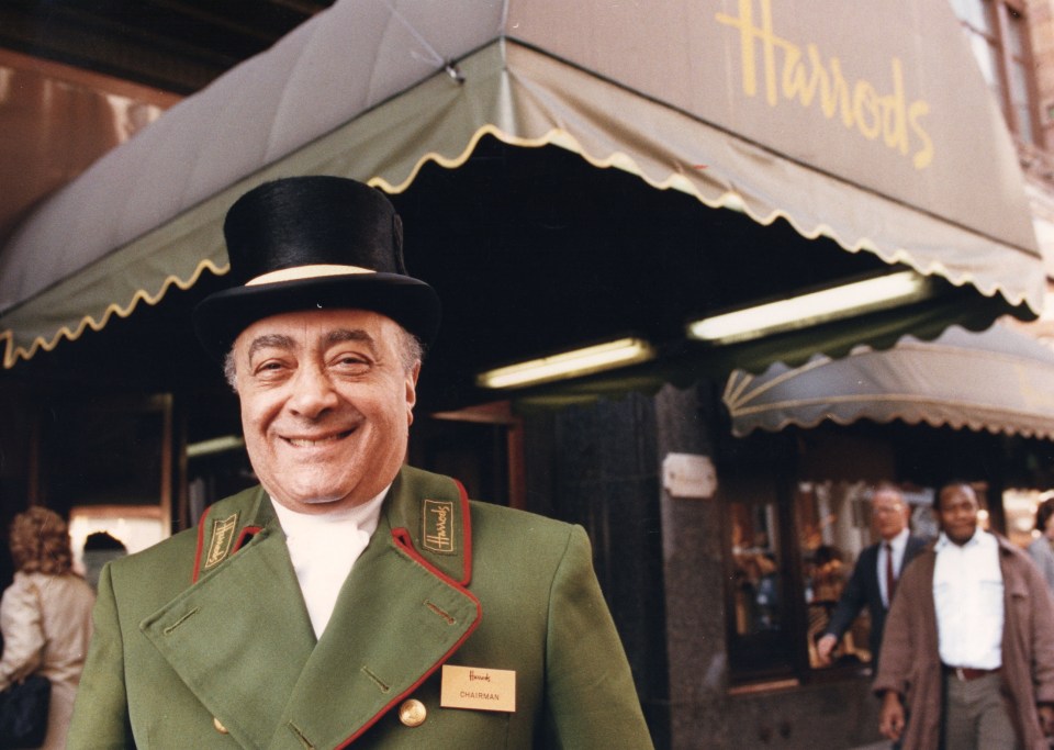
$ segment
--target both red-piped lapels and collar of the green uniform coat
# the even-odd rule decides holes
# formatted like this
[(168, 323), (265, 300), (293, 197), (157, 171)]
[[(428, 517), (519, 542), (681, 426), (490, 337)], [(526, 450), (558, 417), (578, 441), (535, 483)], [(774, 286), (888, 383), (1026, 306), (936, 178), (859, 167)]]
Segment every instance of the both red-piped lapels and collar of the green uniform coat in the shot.
[[(223, 515), (223, 514), (221, 514)], [(332, 748), (365, 732), (452, 656), (482, 617), (468, 499), (404, 469), (315, 642), (284, 535), (262, 499), (199, 545), (198, 582), (142, 629), (205, 708), (246, 747)], [(218, 536), (217, 536), (218, 535)], [(220, 538), (222, 544), (213, 544)]]

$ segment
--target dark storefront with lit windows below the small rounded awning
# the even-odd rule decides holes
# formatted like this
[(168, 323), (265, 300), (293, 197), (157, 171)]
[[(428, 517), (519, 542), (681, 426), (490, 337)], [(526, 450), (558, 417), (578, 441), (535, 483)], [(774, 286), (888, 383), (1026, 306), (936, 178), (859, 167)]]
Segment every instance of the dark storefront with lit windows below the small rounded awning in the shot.
[(1042, 444), (989, 433), (865, 424), (754, 433), (731, 447), (719, 455), (718, 475), (736, 692), (856, 680), (872, 669), (866, 603), (830, 664), (820, 663), (817, 641), (861, 553), (879, 539), (876, 522), (889, 517), (873, 510), (879, 483), (900, 490), (910, 531), (927, 540), (939, 534), (934, 495), (951, 479), (971, 482), (980, 526), (1019, 547), (1040, 536), (1036, 508), (1054, 496), (1052, 475), (1034, 458)]

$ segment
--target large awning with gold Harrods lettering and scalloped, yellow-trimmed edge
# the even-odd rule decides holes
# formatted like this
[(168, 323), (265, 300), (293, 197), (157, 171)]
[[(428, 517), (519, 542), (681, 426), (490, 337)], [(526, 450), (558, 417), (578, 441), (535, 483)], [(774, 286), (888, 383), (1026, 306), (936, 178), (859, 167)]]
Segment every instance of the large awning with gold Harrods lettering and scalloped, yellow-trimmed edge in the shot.
[[(30, 216), (0, 253), (4, 366), (222, 272), (223, 214), (253, 184), (323, 172), (397, 192), (428, 160), (457, 167), (484, 134), (558, 145), (763, 224), (783, 216), (1023, 317), (1039, 310), (1013, 147), (944, 3), (870, 9), (866, 24), (832, 2), (727, 5), (338, 2)], [(764, 29), (808, 53), (778, 59), (784, 75), (820, 81), (840, 58), (844, 86), (806, 101), (751, 78)], [(860, 49), (875, 54), (843, 54)], [(894, 124), (876, 132), (883, 113)]]

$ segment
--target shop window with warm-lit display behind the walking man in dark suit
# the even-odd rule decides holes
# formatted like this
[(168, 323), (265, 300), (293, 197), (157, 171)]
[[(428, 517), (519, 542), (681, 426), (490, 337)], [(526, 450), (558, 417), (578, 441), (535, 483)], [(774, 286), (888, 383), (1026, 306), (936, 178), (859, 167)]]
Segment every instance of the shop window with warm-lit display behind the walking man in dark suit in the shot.
[[(726, 503), (730, 534), (729, 662), (733, 682), (809, 680), (821, 673), (867, 669), (871, 620), (862, 607), (839, 640), (831, 662), (817, 641), (865, 547), (876, 540), (864, 481), (766, 484), (739, 479)], [(937, 534), (932, 489), (905, 489), (918, 536)]]

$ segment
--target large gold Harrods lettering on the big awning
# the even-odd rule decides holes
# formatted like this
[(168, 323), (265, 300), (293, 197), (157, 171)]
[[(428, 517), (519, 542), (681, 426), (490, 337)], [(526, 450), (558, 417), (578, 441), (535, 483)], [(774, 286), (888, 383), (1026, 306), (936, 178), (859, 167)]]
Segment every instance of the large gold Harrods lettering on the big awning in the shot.
[[(761, 45), (761, 60), (765, 101), (770, 107), (785, 100), (798, 100), (809, 108), (818, 102), (823, 116), (831, 120), (841, 115), (842, 124), (856, 130), (868, 141), (882, 136), (882, 142), (904, 156), (909, 156), (916, 169), (926, 169), (933, 161), (933, 139), (922, 126), (930, 105), (916, 99), (908, 103), (904, 90), (904, 64), (892, 58), (893, 92), (879, 94), (878, 89), (864, 79), (850, 86), (842, 72), (842, 64), (831, 57), (825, 64), (815, 44), (805, 52), (799, 45), (776, 35), (772, 25), (772, 0), (761, 0), (761, 20), (754, 22), (754, 0), (739, 0), (739, 16), (717, 14), (718, 23), (738, 29), (743, 66), (743, 93), (758, 94), (756, 45)], [(778, 55), (783, 53), (783, 67)], [(808, 59), (808, 64), (806, 64)], [(909, 133), (910, 131), (910, 133)], [(913, 148), (913, 152), (912, 152)]]

